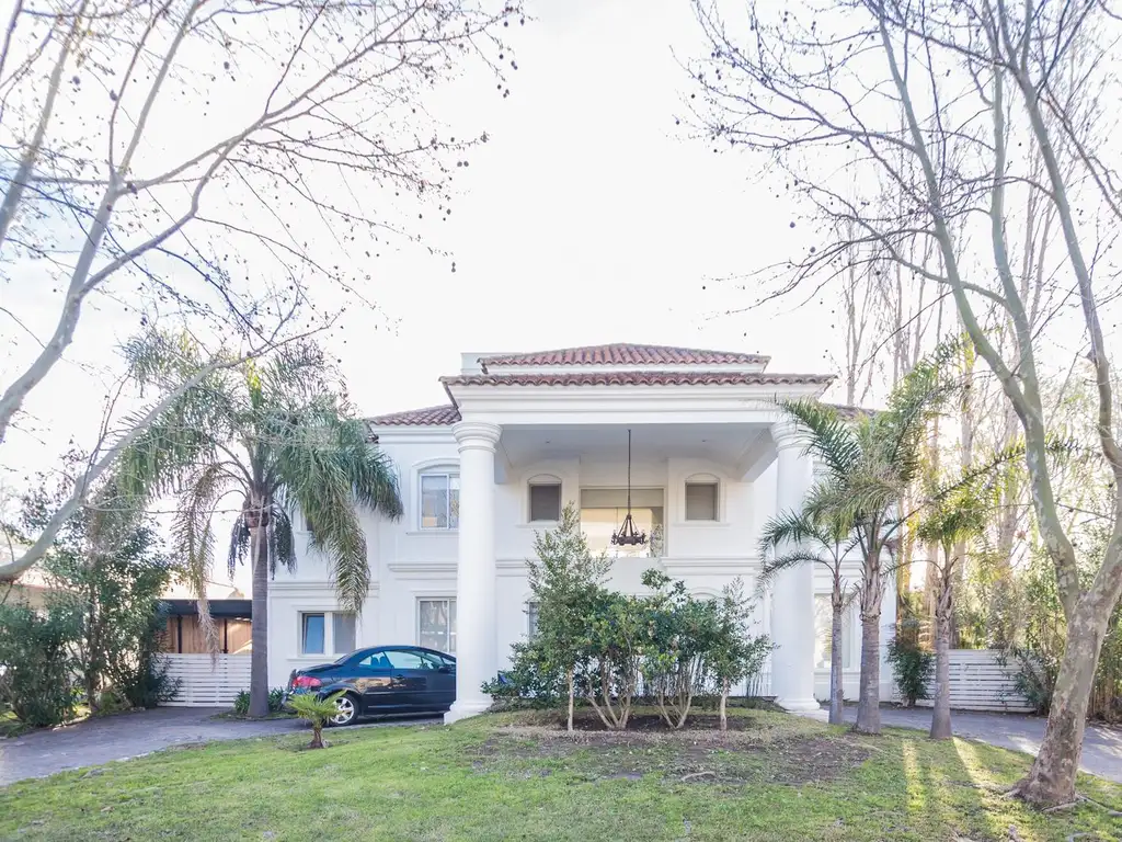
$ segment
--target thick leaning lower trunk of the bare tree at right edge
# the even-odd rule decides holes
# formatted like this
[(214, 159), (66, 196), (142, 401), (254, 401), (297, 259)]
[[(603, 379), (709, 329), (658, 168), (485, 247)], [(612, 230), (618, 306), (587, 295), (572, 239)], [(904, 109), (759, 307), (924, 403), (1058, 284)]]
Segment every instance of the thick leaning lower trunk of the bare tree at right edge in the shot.
[(1093, 587), (1079, 600), (1067, 624), (1067, 646), (1052, 692), (1045, 738), (1032, 768), (1014, 790), (1028, 802), (1055, 805), (1075, 800), (1075, 776), (1083, 753), (1087, 705), (1106, 623), (1112, 606), (1118, 602), (1116, 591), (1100, 593)]

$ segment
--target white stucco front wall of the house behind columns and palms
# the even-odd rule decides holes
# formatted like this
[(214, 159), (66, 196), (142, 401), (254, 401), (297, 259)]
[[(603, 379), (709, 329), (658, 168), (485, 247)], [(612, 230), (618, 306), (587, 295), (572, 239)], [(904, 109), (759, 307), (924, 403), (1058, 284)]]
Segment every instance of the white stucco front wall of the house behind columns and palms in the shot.
[[(380, 515), (362, 515), (368, 540), (371, 588), (356, 629), (356, 644), (375, 646), (417, 642), (417, 602), (426, 597), (456, 597), (457, 533), (421, 531), (419, 528), (419, 473), (426, 468), (459, 463), (457, 445), (448, 428), (411, 429), (380, 437), (380, 447), (397, 466), (405, 514), (398, 521)], [(496, 486), (495, 550), (496, 642), (500, 665), (507, 662), (511, 643), (526, 634), (525, 603), (530, 587), (525, 559), (532, 555), (535, 528), (528, 524), (527, 483), (539, 475), (559, 477), (562, 501), (577, 501), (581, 487), (619, 487), (625, 476), (624, 461), (543, 460), (511, 470), (506, 482)], [(715, 475), (720, 481), (718, 523), (687, 523), (684, 483), (695, 474)], [(674, 578), (686, 582), (695, 593), (716, 595), (736, 576), (748, 592), (754, 587), (756, 536), (760, 525), (774, 511), (775, 466), (763, 472), (754, 483), (734, 482), (718, 464), (668, 456), (659, 461), (636, 461), (632, 467), (635, 487), (664, 488), (664, 550), (659, 565)], [(311, 551), (306, 533), (297, 536), (296, 570), (279, 571), (269, 592), (269, 684), (287, 681), (292, 669), (330, 660), (331, 656), (300, 655), (300, 614), (306, 611), (332, 611), (337, 607), (334, 587), (322, 558)], [(623, 591), (642, 589), (640, 577), (654, 559), (620, 559), (613, 570), (611, 584)], [(856, 578), (856, 576), (855, 576)], [(816, 592), (828, 593), (829, 579), (816, 577)], [(885, 596), (884, 623), (891, 628), (894, 600)], [(771, 607), (756, 606), (758, 632), (769, 631)], [(459, 616), (460, 624), (470, 617)], [(808, 623), (813, 617), (807, 617)], [(328, 624), (330, 625), (330, 623)], [(330, 634), (330, 632), (329, 632)], [(856, 696), (858, 658), (846, 675), (846, 695)], [(891, 687), (886, 676), (885, 687)], [(816, 674), (816, 695), (828, 695), (828, 674)]]

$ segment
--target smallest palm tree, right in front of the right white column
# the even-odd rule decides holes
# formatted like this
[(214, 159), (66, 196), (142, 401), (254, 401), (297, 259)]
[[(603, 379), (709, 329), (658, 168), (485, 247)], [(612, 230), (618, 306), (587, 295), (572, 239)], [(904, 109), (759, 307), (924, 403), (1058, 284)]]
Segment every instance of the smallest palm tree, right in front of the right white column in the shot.
[[(858, 546), (852, 523), (834, 516), (812, 516), (806, 512), (780, 512), (764, 523), (760, 538), (760, 555), (765, 559), (760, 570), (757, 589), (771, 584), (783, 570), (801, 564), (822, 565), (830, 571), (833, 588), (830, 607), (830, 724), (840, 725), (842, 685), (842, 615), (853, 592), (842, 577), (842, 561)], [(775, 552), (788, 547), (782, 555)]]

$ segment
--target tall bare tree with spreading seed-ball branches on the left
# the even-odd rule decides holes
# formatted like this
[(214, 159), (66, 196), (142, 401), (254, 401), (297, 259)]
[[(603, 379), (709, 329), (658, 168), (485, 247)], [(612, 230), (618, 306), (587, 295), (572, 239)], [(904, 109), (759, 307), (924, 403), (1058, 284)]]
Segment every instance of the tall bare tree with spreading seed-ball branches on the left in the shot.
[[(22, 342), (0, 442), (91, 302), (220, 338), (218, 365), (371, 305), (385, 240), (417, 239), (404, 220), (421, 211), (447, 218), (486, 140), (443, 131), (427, 92), (478, 60), (508, 93), (497, 36), (519, 19), (485, 0), (17, 0), (0, 33), (0, 265), (42, 278), (53, 327), (0, 310)], [(154, 417), (122, 413), (119, 438)]]

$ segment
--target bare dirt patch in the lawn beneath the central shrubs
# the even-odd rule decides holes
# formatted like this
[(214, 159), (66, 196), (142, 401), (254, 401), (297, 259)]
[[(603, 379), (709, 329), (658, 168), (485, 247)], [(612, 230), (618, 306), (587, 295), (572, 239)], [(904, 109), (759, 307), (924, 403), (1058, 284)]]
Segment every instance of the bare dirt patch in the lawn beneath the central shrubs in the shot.
[(706, 717), (691, 721), (699, 727), (682, 731), (669, 730), (657, 716), (640, 716), (634, 723), (636, 730), (628, 731), (606, 731), (603, 723), (596, 730), (589, 720), (581, 720), (572, 733), (544, 725), (496, 729), (476, 747), (471, 766), (477, 774), (518, 778), (567, 774), (581, 780), (636, 781), (655, 776), (669, 785), (738, 788), (833, 780), (872, 753), (861, 743), (828, 734), (761, 741), (751, 720), (737, 721), (738, 727), (725, 732), (706, 729)]

